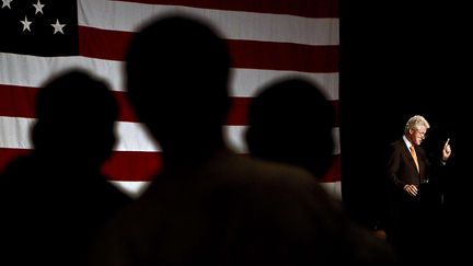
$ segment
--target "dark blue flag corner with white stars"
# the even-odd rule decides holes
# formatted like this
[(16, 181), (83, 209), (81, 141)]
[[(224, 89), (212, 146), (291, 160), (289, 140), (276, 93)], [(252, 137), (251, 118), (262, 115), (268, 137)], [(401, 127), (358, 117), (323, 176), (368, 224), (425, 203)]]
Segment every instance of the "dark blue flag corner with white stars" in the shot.
[(35, 56), (78, 55), (74, 0), (1, 0), (0, 51)]

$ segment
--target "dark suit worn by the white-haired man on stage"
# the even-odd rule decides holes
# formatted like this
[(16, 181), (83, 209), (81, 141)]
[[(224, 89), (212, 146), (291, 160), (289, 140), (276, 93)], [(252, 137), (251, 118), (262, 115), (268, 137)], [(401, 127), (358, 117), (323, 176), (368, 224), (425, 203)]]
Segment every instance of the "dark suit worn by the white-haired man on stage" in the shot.
[[(441, 203), (439, 190), (440, 160), (429, 160), (422, 147), (415, 147), (419, 172), (403, 139), (390, 144), (387, 177), (390, 183), (388, 213), (383, 227), (388, 239), (407, 261), (417, 259), (431, 252), (432, 235), (438, 231)], [(428, 182), (427, 182), (428, 181)], [(418, 188), (416, 196), (403, 190), (406, 184)], [(417, 261), (416, 261), (417, 262)]]

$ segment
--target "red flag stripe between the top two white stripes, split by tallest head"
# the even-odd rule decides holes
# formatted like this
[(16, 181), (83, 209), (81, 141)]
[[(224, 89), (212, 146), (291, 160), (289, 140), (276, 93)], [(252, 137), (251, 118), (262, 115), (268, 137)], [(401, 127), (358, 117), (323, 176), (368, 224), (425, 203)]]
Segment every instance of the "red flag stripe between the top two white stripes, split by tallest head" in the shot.
[[(123, 61), (132, 33), (79, 27), (81, 56)], [(338, 45), (227, 41), (234, 68), (331, 73), (338, 71)]]

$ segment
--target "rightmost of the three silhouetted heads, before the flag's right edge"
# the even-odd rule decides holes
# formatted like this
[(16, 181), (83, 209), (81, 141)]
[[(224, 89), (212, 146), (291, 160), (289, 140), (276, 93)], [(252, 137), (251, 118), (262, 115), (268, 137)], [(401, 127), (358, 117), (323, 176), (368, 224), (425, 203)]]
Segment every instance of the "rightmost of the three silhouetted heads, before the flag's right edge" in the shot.
[(331, 102), (315, 84), (299, 78), (276, 81), (250, 105), (250, 153), (296, 164), (322, 177), (333, 161), (334, 119)]

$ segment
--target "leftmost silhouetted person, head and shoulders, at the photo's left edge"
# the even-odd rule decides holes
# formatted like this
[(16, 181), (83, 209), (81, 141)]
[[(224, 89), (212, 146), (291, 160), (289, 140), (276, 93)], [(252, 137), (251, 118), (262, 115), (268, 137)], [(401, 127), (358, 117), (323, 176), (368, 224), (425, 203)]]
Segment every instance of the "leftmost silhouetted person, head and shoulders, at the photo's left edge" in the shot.
[[(2, 176), (2, 256), (8, 265), (84, 265), (101, 228), (131, 199), (101, 174), (115, 143), (118, 106), (80, 70), (36, 95), (31, 154)], [(5, 264), (7, 265), (7, 264)]]

